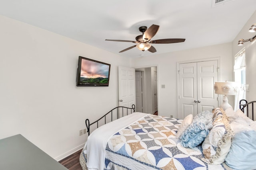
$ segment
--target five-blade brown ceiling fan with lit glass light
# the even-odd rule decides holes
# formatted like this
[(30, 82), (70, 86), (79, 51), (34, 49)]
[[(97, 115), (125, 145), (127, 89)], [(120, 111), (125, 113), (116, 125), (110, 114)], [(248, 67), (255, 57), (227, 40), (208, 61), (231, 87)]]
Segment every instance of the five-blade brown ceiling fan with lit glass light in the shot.
[(137, 43), (132, 47), (128, 47), (120, 51), (122, 53), (124, 51), (130, 50), (134, 47), (137, 47), (141, 51), (148, 50), (151, 53), (155, 53), (156, 49), (151, 44), (169, 44), (169, 43), (181, 43), (184, 42), (185, 39), (181, 38), (168, 38), (168, 39), (157, 39), (151, 40), (152, 37), (156, 35), (156, 32), (159, 29), (159, 25), (151, 25), (149, 28), (146, 26), (139, 27), (139, 31), (142, 32), (142, 35), (138, 35), (135, 39), (136, 41), (129, 41), (129, 40), (118, 40), (118, 39), (105, 39), (106, 41), (120, 41), (120, 42), (130, 42), (130, 43)]

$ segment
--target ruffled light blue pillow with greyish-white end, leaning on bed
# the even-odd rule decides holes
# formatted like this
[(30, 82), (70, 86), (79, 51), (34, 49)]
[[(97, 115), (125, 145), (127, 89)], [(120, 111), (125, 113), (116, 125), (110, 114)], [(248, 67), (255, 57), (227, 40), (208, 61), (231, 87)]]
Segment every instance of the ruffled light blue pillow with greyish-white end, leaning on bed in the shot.
[(186, 148), (194, 148), (200, 145), (208, 135), (211, 127), (212, 113), (210, 111), (198, 113), (192, 123), (180, 136), (180, 144)]

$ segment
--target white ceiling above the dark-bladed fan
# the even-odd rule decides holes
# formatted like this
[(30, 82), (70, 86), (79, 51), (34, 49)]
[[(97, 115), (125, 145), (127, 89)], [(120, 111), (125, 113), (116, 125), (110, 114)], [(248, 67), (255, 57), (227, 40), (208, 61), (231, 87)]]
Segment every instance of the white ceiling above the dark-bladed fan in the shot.
[[(0, 0), (0, 15), (122, 55), (141, 57), (228, 43), (256, 10), (256, 0)], [(152, 38), (185, 38), (184, 43), (154, 44), (156, 53), (134, 43), (138, 27), (160, 25)], [(253, 23), (252, 23), (253, 24)]]

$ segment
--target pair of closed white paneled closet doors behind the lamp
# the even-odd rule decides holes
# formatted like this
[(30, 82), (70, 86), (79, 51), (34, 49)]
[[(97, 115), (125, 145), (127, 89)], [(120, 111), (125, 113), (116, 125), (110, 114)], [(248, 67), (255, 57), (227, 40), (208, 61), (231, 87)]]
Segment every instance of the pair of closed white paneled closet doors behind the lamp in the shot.
[(218, 61), (179, 64), (180, 118), (218, 107), (214, 82), (218, 81)]

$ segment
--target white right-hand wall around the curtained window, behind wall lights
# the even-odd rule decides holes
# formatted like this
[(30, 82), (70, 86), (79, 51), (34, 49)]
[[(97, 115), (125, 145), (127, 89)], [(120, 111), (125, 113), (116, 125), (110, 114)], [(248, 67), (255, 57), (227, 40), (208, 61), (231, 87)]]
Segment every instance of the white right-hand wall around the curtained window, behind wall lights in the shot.
[[(234, 56), (243, 48), (246, 55), (246, 84), (249, 84), (249, 92), (246, 92), (246, 100), (248, 102), (256, 100), (256, 40), (246, 42), (242, 46), (238, 46), (239, 39), (249, 39), (254, 37), (256, 33), (250, 33), (248, 30), (252, 24), (256, 23), (256, 11), (251, 18), (246, 22), (240, 33), (232, 42), (232, 61), (234, 64)], [(256, 116), (256, 113), (254, 113)]]

